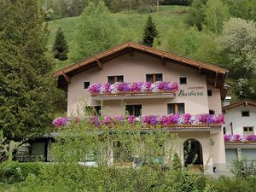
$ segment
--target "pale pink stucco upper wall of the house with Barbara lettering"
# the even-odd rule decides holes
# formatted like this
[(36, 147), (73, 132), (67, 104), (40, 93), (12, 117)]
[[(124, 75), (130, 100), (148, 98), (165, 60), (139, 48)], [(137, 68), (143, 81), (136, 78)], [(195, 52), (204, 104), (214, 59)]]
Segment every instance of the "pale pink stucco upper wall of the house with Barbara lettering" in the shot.
[[(185, 112), (209, 113), (210, 109), (216, 113), (221, 113), (220, 94), (218, 89), (212, 89), (212, 96), (207, 96), (206, 76), (201, 75), (198, 70), (190, 67), (168, 62), (163, 65), (158, 58), (149, 55), (134, 53), (134, 55), (122, 55), (111, 61), (103, 63), (103, 69), (99, 67), (79, 73), (71, 78), (68, 84), (67, 114), (81, 112), (84, 103), (87, 105), (99, 105), (91, 99), (88, 90), (83, 89), (83, 82), (92, 83), (108, 82), (108, 76), (124, 75), (125, 82), (145, 82), (146, 74), (163, 73), (164, 81), (177, 82), (180, 76), (186, 76), (188, 84), (179, 85), (179, 90), (190, 92), (192, 90), (202, 92), (203, 96), (175, 96), (170, 99), (149, 99), (149, 100), (126, 100), (125, 103), (143, 104), (143, 114), (166, 114), (167, 103), (184, 102)], [(104, 102), (104, 107), (108, 114), (123, 113), (120, 101)]]

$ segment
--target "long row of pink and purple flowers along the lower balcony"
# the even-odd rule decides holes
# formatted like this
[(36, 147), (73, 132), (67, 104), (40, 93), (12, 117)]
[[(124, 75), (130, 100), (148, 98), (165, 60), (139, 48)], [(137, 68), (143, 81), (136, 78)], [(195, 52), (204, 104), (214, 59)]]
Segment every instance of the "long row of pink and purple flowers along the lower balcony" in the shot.
[[(56, 127), (68, 125), (69, 118), (57, 118), (53, 121)], [(119, 123), (138, 124), (138, 125), (221, 125), (224, 124), (224, 116), (222, 114), (168, 114), (168, 115), (145, 115), (135, 117), (134, 115), (123, 116), (87, 116), (84, 119), (76, 119), (74, 122), (84, 121), (95, 126), (101, 125), (117, 125)]]

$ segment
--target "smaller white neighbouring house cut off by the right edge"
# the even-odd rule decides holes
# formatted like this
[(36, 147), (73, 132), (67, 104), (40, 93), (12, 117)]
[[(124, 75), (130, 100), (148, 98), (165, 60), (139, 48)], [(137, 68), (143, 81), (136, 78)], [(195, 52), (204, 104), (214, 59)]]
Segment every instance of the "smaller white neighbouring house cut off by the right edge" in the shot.
[(243, 100), (222, 108), (227, 166), (233, 160), (256, 160), (256, 102)]

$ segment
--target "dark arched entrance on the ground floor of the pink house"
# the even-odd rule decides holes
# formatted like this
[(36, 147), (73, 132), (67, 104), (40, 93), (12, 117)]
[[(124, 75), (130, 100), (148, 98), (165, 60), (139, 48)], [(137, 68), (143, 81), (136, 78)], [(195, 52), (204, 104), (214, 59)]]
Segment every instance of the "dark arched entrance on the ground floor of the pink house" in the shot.
[(203, 165), (201, 143), (195, 139), (188, 139), (183, 143), (184, 166)]

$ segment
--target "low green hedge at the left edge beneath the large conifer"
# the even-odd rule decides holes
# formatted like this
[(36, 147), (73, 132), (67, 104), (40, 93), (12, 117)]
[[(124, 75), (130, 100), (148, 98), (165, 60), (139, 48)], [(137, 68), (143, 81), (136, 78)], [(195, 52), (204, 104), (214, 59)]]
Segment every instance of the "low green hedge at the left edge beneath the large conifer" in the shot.
[(29, 174), (39, 176), (45, 164), (39, 162), (19, 163), (6, 161), (0, 164), (0, 182), (16, 183), (25, 181)]

